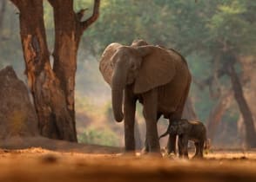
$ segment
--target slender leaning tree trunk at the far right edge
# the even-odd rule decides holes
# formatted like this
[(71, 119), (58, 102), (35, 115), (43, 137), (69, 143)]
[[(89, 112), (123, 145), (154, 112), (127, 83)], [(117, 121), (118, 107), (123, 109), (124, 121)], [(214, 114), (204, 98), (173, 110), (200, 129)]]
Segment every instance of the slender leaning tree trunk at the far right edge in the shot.
[(239, 81), (239, 76), (237, 75), (232, 63), (229, 64), (228, 71), (232, 81), (234, 98), (238, 103), (239, 110), (243, 116), (243, 120), (245, 121), (246, 145), (247, 147), (256, 147), (256, 140), (255, 140), (256, 133), (255, 133), (255, 127), (253, 122), (253, 114), (250, 108), (248, 107), (241, 83)]

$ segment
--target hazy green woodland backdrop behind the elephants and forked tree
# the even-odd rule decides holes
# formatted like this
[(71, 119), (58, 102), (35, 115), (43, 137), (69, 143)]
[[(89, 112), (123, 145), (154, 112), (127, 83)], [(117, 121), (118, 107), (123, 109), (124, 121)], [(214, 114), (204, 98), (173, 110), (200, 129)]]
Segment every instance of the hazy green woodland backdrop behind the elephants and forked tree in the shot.
[[(75, 10), (93, 1), (75, 0)], [(235, 68), (246, 101), (256, 116), (256, 1), (255, 0), (102, 0), (98, 21), (84, 32), (77, 57), (76, 113), (80, 142), (123, 146), (123, 123), (111, 114), (111, 92), (98, 70), (98, 60), (111, 42), (130, 45), (142, 38), (152, 44), (179, 50), (193, 75), (190, 96), (199, 120), (205, 125), (219, 114), (212, 143), (217, 147), (243, 147), (244, 126), (232, 96), (230, 78), (219, 76), (229, 60), (219, 58), (223, 49), (239, 55)], [(44, 1), (47, 41), (52, 52), (54, 25), (51, 6)], [(26, 82), (19, 37), (18, 14), (7, 0), (0, 1), (0, 68), (12, 65)], [(0, 86), (1, 87), (1, 86)], [(220, 109), (218, 113), (218, 109)], [(144, 140), (144, 120), (138, 108), (138, 128)], [(159, 133), (167, 120), (159, 122)], [(142, 141), (141, 141), (142, 142)]]

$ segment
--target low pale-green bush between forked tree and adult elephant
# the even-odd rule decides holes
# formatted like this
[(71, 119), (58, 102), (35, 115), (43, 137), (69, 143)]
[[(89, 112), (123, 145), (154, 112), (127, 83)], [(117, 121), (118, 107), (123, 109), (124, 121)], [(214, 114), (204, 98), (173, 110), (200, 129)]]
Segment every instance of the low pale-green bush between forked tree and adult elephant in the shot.
[(118, 136), (111, 130), (88, 128), (78, 135), (78, 142), (102, 146), (118, 146)]

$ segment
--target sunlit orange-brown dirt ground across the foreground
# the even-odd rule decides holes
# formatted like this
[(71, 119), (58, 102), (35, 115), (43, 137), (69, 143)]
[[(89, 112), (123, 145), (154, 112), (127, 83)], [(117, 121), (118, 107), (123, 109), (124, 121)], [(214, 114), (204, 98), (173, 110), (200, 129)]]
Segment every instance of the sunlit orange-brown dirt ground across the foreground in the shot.
[(256, 181), (256, 150), (213, 150), (204, 160), (102, 152), (1, 149), (0, 181)]

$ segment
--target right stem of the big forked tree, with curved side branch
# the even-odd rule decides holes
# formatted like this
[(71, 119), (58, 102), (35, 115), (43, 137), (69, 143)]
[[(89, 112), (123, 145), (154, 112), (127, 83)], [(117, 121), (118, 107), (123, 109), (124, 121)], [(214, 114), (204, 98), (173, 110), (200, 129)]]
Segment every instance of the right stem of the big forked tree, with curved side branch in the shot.
[[(96, 21), (98, 12), (93, 15), (93, 22), (89, 19), (87, 24), (81, 23), (84, 11), (77, 14), (73, 10), (73, 1), (49, 0), (54, 11), (55, 47), (53, 52), (53, 70), (60, 86), (66, 95), (67, 109), (71, 115), (72, 125), (75, 123), (75, 76), (77, 71), (77, 50), (81, 36), (87, 27)], [(60, 8), (61, 7), (61, 8)], [(95, 11), (98, 11), (99, 1), (95, 3)], [(76, 133), (76, 131), (74, 131)]]

